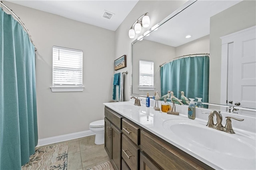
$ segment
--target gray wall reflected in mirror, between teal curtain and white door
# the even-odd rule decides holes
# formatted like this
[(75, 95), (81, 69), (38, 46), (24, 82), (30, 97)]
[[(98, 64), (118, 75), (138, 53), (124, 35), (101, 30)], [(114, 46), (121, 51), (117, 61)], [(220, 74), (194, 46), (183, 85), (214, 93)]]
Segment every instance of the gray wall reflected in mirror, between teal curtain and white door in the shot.
[(256, 1), (244, 0), (210, 18), (209, 102), (220, 103), (221, 39), (256, 25)]

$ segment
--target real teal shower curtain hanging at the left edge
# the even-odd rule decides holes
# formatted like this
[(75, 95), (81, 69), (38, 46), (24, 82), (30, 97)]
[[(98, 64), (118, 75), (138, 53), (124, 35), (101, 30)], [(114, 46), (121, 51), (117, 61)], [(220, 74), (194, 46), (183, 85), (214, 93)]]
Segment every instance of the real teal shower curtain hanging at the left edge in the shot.
[(34, 45), (0, 8), (0, 170), (17, 170), (38, 142)]

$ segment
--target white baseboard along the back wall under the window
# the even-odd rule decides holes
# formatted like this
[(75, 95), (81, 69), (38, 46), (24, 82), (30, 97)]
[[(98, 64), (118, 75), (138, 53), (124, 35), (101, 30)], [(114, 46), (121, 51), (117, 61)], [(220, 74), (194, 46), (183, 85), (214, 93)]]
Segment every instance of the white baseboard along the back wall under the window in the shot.
[(64, 135), (60, 135), (60, 136), (54, 136), (54, 137), (50, 137), (50, 138), (39, 139), (37, 147), (48, 145), (48, 144), (53, 144), (53, 143), (58, 143), (58, 142), (63, 142), (66, 140), (72, 140), (72, 139), (76, 139), (76, 138), (91, 136), (94, 134), (95, 133), (92, 132), (92, 130), (86, 130), (86, 131), (82, 131), (82, 132), (76, 132), (76, 133), (64, 134)]

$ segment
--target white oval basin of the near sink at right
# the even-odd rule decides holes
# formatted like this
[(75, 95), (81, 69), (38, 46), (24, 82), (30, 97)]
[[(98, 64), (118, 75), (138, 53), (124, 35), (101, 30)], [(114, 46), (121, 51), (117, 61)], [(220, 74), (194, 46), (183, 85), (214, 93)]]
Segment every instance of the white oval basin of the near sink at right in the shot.
[(255, 139), (206, 127), (206, 123), (172, 119), (163, 123), (176, 137), (200, 148), (237, 158), (256, 158)]

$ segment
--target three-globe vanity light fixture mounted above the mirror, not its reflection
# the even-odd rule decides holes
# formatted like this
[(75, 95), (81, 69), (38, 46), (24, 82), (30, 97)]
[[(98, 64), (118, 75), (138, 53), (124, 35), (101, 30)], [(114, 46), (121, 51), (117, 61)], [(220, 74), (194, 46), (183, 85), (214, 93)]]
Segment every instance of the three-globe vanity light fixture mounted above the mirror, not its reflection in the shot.
[(148, 16), (148, 12), (140, 16), (131, 26), (129, 30), (129, 37), (134, 38), (135, 34), (140, 34), (141, 32), (141, 26), (144, 28), (148, 28), (150, 24), (150, 19)]

